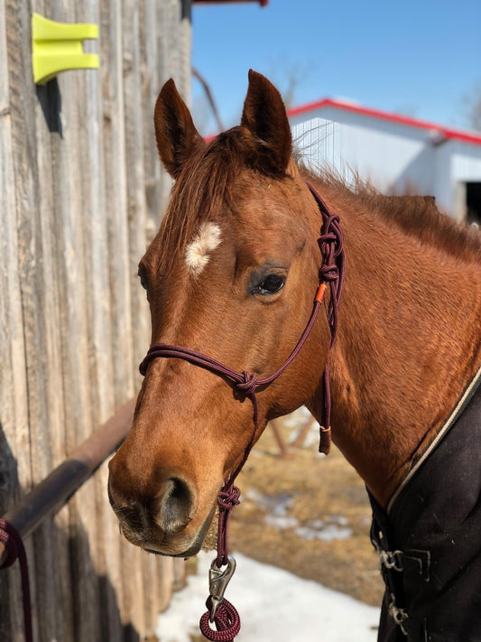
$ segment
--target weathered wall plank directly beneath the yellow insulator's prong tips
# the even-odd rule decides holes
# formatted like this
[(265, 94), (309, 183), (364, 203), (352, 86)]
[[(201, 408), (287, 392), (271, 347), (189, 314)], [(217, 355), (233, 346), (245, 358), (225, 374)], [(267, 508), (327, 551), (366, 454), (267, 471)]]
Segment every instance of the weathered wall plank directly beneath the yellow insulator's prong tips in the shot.
[[(79, 23), (100, 23), (100, 5), (97, 0), (85, 0), (76, 8)], [(100, 42), (98, 46), (101, 47)], [(103, 59), (107, 65), (108, 61)], [(88, 369), (90, 380), (90, 407), (93, 428), (114, 412), (114, 389), (112, 369), (112, 329), (110, 325), (110, 287), (107, 252), (107, 218), (105, 165), (103, 140), (102, 75), (100, 71), (88, 71), (79, 75), (80, 95), (88, 97), (79, 111), (79, 128), (84, 145), (80, 156), (80, 172), (84, 193), (84, 276), (86, 279), (85, 313), (88, 323)], [(124, 400), (123, 400), (124, 401)], [(99, 639), (115, 639), (119, 634), (120, 619), (116, 612), (116, 600), (107, 582), (106, 529), (106, 474), (98, 473), (92, 479), (91, 488), (95, 497), (95, 520), (82, 520), (88, 536), (88, 550), (97, 575), (97, 587), (101, 601), (96, 634)], [(106, 608), (107, 607), (107, 608)]]

